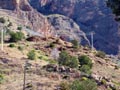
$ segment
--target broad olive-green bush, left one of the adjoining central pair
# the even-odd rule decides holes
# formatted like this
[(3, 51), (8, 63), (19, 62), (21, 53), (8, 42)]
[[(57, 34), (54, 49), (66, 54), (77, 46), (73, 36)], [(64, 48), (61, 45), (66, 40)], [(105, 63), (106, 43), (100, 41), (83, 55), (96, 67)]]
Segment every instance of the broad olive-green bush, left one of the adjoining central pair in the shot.
[(58, 63), (60, 65), (69, 66), (71, 68), (77, 68), (79, 61), (76, 57), (70, 56), (67, 52), (62, 51), (59, 55)]

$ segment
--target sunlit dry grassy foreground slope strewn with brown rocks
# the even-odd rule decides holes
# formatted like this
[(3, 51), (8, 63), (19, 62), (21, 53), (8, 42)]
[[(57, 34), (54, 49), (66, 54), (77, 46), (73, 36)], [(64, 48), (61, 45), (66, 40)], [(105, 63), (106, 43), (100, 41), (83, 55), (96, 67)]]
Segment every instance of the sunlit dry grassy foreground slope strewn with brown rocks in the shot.
[[(27, 65), (26, 90), (64, 90), (60, 88), (61, 83), (71, 83), (76, 79), (82, 81), (94, 80), (98, 88), (95, 90), (120, 89), (120, 68), (117, 64), (111, 62), (112, 58), (97, 54), (97, 51), (91, 52), (90, 48), (83, 46), (76, 50), (73, 44), (60, 38), (52, 37), (44, 40), (41, 37), (30, 37), (27, 40), (5, 43), (4, 51), (0, 51), (0, 90), (22, 90), (25, 65)], [(59, 65), (59, 59), (54, 60), (53, 56), (57, 52), (53, 55), (53, 48), (57, 48), (59, 53), (62, 52), (61, 50), (65, 50), (74, 57), (83, 55), (89, 57), (93, 64), (91, 70), (84, 68), (81, 71), (78, 68)], [(31, 50), (35, 52), (35, 60), (28, 58), (28, 53)], [(32, 55), (34, 56), (34, 54)], [(28, 61), (27, 64), (25, 64), (26, 61)], [(74, 62), (71, 63), (75, 64)], [(91, 72), (90, 75), (88, 71)], [(63, 87), (66, 85), (63, 85)], [(93, 83), (90, 85), (92, 86)]]

